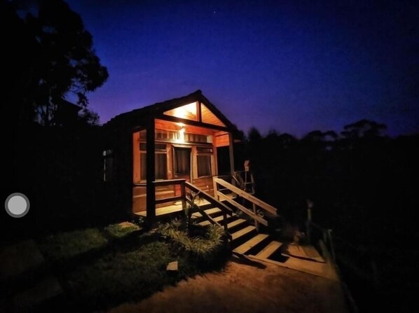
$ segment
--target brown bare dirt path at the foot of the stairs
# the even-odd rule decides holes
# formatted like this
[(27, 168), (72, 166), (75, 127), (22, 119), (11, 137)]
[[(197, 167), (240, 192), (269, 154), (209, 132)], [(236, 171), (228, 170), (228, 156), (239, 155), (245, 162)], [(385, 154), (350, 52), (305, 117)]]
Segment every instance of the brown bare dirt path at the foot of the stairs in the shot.
[[(258, 267), (256, 267), (256, 266)], [(165, 288), (139, 303), (110, 312), (343, 312), (348, 307), (338, 281), (268, 263), (231, 261), (209, 273)]]

